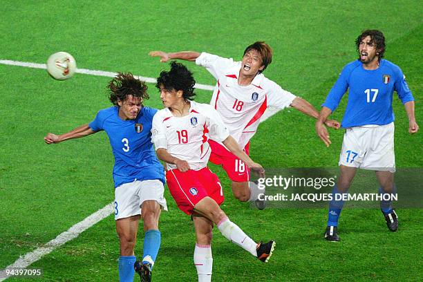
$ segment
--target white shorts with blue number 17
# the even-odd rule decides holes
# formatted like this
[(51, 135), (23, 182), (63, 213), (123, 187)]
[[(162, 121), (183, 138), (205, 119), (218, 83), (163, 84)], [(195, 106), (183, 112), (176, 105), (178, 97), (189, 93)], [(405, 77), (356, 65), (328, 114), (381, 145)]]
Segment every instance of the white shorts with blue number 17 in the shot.
[(395, 172), (393, 122), (346, 129), (338, 164)]

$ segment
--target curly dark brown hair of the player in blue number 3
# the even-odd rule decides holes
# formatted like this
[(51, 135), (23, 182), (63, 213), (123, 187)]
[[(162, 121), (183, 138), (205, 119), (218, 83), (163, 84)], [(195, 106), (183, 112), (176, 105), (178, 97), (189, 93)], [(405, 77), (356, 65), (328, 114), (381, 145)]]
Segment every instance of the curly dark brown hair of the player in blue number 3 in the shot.
[(110, 93), (109, 100), (115, 106), (118, 105), (118, 100), (123, 102), (129, 95), (140, 97), (142, 100), (149, 99), (147, 85), (133, 77), (132, 73), (118, 73), (115, 78), (111, 79), (107, 88)]

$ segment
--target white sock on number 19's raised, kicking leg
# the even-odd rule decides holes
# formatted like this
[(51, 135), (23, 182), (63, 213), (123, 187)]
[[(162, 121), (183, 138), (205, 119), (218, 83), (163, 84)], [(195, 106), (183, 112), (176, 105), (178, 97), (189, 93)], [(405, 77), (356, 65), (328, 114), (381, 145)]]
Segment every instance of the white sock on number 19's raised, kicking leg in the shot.
[(225, 238), (236, 245), (241, 246), (247, 252), (250, 252), (253, 256), (257, 256), (257, 243), (247, 236), (241, 228), (238, 227), (235, 223), (232, 223), (229, 218), (223, 218), (218, 223), (218, 229)]

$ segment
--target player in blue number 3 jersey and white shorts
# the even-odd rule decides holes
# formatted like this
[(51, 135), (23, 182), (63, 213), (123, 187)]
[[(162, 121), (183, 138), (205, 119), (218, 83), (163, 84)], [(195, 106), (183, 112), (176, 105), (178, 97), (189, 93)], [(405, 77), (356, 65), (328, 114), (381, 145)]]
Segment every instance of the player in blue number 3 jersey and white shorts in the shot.
[[(151, 123), (156, 109), (143, 106), (149, 98), (147, 86), (131, 73), (118, 73), (109, 83), (114, 106), (102, 109), (89, 124), (56, 135), (48, 133), (47, 144), (82, 138), (99, 131), (109, 136), (115, 165), (115, 223), (120, 238), (120, 281), (133, 281), (135, 270), (142, 281), (151, 281), (151, 270), (160, 247), (158, 220), (164, 199), (164, 169), (151, 143)], [(144, 222), (142, 262), (136, 261), (134, 247), (138, 222)]]

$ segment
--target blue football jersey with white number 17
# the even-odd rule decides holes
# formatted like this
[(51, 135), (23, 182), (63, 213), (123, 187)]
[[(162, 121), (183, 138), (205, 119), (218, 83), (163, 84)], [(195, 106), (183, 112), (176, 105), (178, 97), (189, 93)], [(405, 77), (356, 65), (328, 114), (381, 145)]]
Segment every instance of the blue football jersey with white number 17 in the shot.
[(403, 104), (414, 100), (401, 68), (386, 59), (372, 71), (364, 69), (359, 60), (347, 64), (322, 106), (335, 111), (347, 89), (348, 103), (341, 122), (344, 128), (393, 122), (393, 91)]

